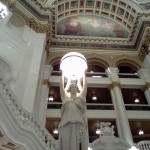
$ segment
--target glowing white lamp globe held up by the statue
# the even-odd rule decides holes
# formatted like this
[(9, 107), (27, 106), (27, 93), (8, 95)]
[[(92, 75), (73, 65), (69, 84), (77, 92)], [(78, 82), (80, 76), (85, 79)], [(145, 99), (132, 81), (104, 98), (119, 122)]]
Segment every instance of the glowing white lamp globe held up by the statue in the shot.
[(72, 80), (83, 77), (87, 69), (87, 61), (85, 57), (77, 52), (70, 52), (64, 55), (61, 59), (60, 70), (66, 78)]

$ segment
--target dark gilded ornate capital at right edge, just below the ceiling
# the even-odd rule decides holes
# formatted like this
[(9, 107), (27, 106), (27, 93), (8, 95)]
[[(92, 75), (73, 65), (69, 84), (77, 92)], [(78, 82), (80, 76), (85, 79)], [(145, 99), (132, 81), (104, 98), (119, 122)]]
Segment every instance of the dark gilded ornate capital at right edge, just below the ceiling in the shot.
[(141, 61), (144, 61), (145, 56), (149, 54), (149, 49), (148, 49), (149, 45), (150, 45), (150, 29), (147, 29), (146, 35), (144, 37), (144, 40), (139, 50), (139, 58)]

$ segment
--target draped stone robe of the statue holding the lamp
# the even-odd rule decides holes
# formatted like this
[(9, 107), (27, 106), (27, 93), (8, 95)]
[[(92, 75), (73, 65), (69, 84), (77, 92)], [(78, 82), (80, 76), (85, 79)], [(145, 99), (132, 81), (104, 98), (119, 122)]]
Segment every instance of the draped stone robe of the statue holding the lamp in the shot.
[(66, 99), (63, 102), (59, 124), (59, 150), (79, 150), (79, 147), (87, 150), (86, 102), (81, 97)]

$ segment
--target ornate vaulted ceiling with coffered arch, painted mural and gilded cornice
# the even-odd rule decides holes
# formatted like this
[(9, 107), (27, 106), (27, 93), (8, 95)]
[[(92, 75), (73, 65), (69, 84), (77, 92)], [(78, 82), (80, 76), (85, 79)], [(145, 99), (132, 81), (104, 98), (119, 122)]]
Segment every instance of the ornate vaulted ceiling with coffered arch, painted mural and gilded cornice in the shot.
[(149, 0), (19, 0), (16, 3), (25, 15), (49, 25), (53, 48), (140, 51), (142, 37), (150, 25)]

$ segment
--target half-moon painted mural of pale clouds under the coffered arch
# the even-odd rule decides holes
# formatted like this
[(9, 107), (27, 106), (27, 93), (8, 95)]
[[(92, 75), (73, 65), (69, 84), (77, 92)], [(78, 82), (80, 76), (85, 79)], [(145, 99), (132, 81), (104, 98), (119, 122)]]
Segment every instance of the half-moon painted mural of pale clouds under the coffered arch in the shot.
[(129, 33), (104, 17), (80, 15), (59, 21), (57, 35), (127, 38)]

